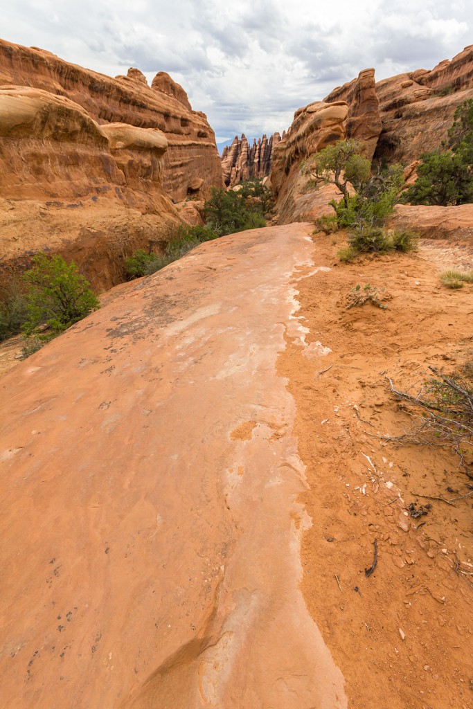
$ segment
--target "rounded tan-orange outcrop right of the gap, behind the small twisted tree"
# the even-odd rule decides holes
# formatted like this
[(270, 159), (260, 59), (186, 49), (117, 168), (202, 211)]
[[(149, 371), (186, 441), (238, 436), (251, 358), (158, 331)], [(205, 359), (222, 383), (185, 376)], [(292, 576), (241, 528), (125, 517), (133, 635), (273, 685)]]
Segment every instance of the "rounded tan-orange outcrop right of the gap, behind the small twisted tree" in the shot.
[(347, 113), (345, 101), (332, 104), (316, 101), (294, 114), (286, 137), (274, 148), (270, 176), (280, 224), (308, 220), (321, 206), (327, 209), (328, 202), (335, 197), (335, 189), (330, 186), (320, 193), (306, 190), (308, 177), (301, 172), (301, 162), (326, 145), (345, 138)]

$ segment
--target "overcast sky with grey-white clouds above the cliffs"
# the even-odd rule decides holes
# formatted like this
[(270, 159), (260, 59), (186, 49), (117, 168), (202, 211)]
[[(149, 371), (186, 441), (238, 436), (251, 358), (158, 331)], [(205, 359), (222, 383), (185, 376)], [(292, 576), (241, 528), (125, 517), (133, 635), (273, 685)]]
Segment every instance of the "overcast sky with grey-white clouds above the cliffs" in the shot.
[(3, 39), (110, 76), (171, 74), (217, 142), (282, 131), (361, 69), (432, 69), (473, 43), (473, 0), (11, 0)]

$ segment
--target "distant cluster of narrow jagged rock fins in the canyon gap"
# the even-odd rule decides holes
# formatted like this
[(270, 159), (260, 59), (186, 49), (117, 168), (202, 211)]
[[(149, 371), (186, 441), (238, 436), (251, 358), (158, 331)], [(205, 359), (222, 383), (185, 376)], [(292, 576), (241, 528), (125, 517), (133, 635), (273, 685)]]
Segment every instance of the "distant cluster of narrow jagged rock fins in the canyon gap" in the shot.
[(269, 136), (253, 140), (253, 145), (248, 145), (247, 138), (243, 133), (240, 138), (235, 135), (235, 140), (223, 148), (222, 154), (222, 174), (223, 182), (226, 186), (233, 186), (243, 180), (252, 177), (266, 177), (269, 175), (272, 164), (274, 147), (284, 140), (286, 132), (282, 134), (274, 133)]

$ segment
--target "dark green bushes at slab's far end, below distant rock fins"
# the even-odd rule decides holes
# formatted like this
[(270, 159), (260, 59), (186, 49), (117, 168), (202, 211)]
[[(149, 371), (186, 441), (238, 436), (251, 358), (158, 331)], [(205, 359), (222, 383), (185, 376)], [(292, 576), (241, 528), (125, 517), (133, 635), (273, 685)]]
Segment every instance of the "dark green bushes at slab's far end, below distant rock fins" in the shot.
[(208, 226), (218, 236), (266, 225), (262, 209), (245, 196), (245, 191), (240, 194), (212, 187), (210, 199), (204, 204), (204, 214)]

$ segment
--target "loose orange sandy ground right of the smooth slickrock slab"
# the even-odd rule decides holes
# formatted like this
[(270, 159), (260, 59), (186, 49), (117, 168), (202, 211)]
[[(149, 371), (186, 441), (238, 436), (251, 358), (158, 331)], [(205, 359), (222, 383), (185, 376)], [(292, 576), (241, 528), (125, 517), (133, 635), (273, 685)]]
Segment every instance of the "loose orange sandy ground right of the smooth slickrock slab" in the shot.
[[(451, 454), (379, 435), (409, 428), (386, 376), (406, 389), (428, 379), (428, 365), (452, 372), (473, 354), (473, 288), (449, 291), (438, 279), (439, 269), (472, 261), (464, 247), (435, 242), (344, 265), (335, 257), (342, 241), (314, 237), (313, 259), (325, 269), (301, 271), (296, 288), (306, 341), (316, 344), (307, 357), (288, 343), (279, 362), (310, 485), (301, 496), (313, 520), (303, 540), (304, 598), (350, 707), (470, 709), (473, 498), (449, 506), (421, 495), (462, 496), (472, 480)], [(350, 289), (367, 283), (386, 289), (387, 310), (346, 309)], [(410, 503), (431, 507), (415, 519)], [(377, 568), (367, 578), (375, 540)]]

